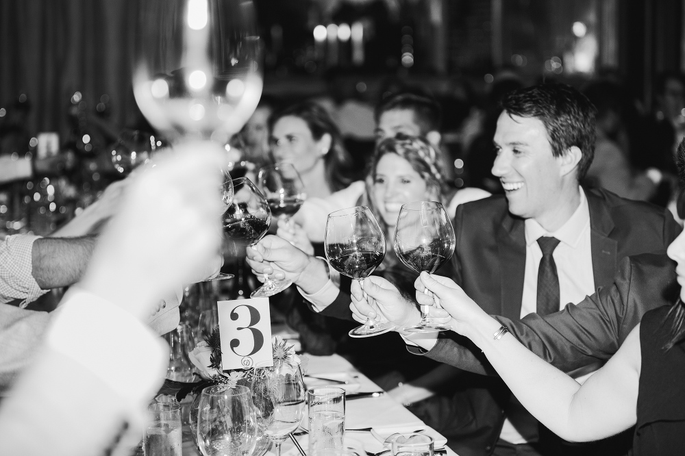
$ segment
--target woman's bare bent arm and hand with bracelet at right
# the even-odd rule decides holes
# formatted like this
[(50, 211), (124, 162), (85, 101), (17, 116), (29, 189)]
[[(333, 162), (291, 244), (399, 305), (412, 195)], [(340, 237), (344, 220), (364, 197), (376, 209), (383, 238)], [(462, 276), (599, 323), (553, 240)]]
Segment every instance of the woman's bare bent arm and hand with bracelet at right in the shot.
[(488, 316), (448, 280), (438, 283), (423, 273), (421, 281), (445, 303), (453, 329), (483, 351), (516, 398), (551, 431), (571, 442), (609, 437), (636, 422), (640, 340), (638, 329), (621, 350), (580, 385), (527, 350), (514, 336), (501, 331), (501, 323)]

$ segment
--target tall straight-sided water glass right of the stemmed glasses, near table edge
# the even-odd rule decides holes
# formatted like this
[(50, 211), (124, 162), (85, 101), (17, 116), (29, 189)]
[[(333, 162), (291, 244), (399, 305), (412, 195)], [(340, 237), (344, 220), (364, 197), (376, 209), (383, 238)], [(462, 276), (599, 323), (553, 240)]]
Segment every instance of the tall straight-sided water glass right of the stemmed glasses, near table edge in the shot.
[(345, 390), (334, 386), (310, 388), (309, 453), (345, 449)]

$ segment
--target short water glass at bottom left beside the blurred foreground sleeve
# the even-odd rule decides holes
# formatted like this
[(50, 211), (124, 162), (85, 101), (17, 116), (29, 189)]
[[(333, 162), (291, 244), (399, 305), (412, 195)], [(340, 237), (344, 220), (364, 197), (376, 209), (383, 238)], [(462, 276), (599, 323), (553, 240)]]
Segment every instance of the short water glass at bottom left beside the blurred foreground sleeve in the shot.
[(155, 402), (147, 407), (150, 422), (145, 430), (145, 456), (181, 456), (181, 405)]

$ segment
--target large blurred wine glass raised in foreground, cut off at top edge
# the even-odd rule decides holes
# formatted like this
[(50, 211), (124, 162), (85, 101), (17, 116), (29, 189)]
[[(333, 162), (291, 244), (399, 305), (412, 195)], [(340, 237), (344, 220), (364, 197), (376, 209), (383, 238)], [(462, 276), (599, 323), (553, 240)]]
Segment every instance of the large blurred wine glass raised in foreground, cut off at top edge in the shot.
[(134, 95), (172, 143), (238, 133), (262, 93), (262, 45), (249, 0), (148, 0), (138, 8)]

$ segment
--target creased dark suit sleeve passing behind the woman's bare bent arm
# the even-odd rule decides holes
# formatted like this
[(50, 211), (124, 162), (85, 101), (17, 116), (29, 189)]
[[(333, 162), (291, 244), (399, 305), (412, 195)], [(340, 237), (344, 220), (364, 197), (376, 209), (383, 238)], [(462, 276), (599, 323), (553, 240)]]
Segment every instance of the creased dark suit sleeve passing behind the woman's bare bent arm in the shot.
[[(561, 312), (545, 317), (530, 314), (519, 321), (495, 318), (527, 349), (575, 373), (609, 359), (643, 314), (669, 303), (674, 291), (675, 264), (666, 255), (645, 253), (623, 259), (612, 286)], [(454, 333), (441, 334), (427, 352), (416, 347), (410, 351), (478, 374), (494, 373), (473, 343)]]

